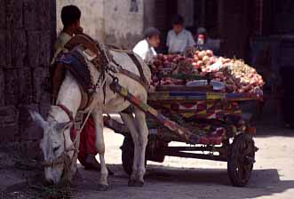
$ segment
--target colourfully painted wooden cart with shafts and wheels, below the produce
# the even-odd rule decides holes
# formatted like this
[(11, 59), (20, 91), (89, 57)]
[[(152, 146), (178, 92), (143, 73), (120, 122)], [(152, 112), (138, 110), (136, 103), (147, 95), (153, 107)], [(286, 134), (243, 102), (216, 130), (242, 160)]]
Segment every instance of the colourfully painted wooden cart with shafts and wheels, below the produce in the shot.
[[(252, 139), (255, 128), (242, 119), (238, 102), (258, 100), (256, 96), (213, 92), (210, 86), (160, 86), (155, 92), (149, 92), (147, 105), (117, 82), (111, 87), (147, 113), (147, 160), (163, 163), (165, 156), (178, 156), (227, 162), (232, 184), (238, 187), (247, 184), (257, 151)], [(121, 147), (123, 169), (131, 174), (133, 142), (130, 132), (123, 123), (110, 117), (105, 117), (104, 122), (125, 137)], [(171, 141), (193, 147), (170, 147)]]

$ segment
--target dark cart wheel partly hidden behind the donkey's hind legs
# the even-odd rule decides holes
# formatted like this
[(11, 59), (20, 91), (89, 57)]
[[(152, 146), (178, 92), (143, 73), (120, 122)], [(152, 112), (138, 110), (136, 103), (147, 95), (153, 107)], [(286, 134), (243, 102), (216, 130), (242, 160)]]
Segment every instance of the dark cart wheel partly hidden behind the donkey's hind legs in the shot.
[[(134, 161), (134, 143), (131, 137), (125, 137), (123, 139), (122, 149), (122, 162), (123, 170), (131, 175), (132, 172), (132, 163)], [(147, 159), (145, 158), (145, 167), (147, 165)]]

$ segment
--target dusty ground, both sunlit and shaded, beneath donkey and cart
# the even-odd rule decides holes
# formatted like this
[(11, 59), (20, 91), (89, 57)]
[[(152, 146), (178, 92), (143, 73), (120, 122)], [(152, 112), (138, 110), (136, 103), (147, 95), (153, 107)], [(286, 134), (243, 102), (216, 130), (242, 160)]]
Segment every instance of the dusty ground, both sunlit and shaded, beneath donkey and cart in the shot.
[[(294, 198), (294, 131), (271, 123), (258, 124), (257, 163), (247, 187), (231, 186), (226, 163), (175, 157), (166, 157), (164, 163), (148, 162), (145, 186), (127, 187), (128, 176), (123, 171), (119, 149), (123, 137), (106, 130), (105, 139), (106, 161), (115, 171), (115, 176), (108, 178), (108, 191), (97, 191), (99, 173), (80, 167), (71, 198)], [(2, 197), (29, 198), (23, 193), (28, 189), (30, 172), (0, 167)]]

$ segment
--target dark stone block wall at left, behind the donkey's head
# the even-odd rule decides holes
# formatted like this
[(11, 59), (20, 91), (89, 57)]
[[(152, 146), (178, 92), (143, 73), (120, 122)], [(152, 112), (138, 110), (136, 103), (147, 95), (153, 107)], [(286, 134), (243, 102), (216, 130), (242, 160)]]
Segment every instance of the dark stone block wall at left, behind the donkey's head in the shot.
[(55, 8), (52, 0), (0, 0), (0, 144), (42, 136), (28, 129), (28, 108), (44, 115), (49, 106)]

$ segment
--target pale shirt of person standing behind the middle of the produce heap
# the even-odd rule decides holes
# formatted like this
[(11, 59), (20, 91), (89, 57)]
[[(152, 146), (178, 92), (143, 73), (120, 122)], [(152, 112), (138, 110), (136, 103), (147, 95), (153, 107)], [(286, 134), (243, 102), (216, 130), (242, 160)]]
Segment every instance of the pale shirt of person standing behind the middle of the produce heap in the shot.
[(187, 47), (195, 46), (195, 41), (187, 29), (183, 29), (178, 35), (171, 29), (167, 36), (166, 45), (169, 47), (169, 53), (184, 53)]

